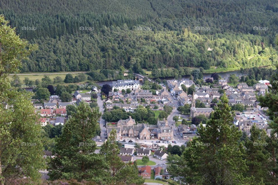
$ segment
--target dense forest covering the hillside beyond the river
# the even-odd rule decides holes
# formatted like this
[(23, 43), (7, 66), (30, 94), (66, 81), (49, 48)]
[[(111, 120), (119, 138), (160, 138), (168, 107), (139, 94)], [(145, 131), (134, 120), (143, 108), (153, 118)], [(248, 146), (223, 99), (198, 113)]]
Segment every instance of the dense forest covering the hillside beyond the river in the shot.
[(277, 11), (268, 0), (0, 2), (38, 46), (21, 72), (268, 66), (277, 63)]

